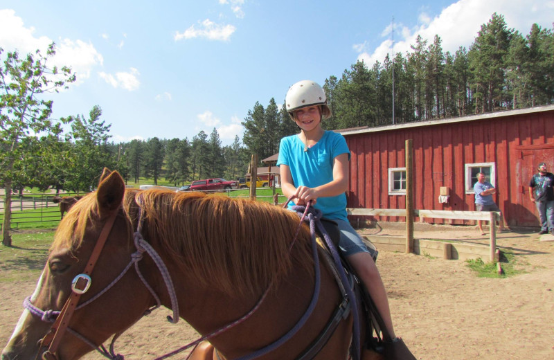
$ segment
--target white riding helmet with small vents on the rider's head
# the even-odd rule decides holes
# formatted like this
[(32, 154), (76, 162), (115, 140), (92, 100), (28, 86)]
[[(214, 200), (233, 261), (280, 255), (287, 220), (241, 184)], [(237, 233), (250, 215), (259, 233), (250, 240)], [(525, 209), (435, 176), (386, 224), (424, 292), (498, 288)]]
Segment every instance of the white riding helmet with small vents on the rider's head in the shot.
[(287, 107), (287, 112), (292, 120), (295, 120), (295, 110), (315, 105), (321, 106), (321, 120), (331, 117), (331, 109), (327, 106), (327, 96), (317, 82), (302, 80), (289, 87), (287, 96), (285, 96), (285, 107)]

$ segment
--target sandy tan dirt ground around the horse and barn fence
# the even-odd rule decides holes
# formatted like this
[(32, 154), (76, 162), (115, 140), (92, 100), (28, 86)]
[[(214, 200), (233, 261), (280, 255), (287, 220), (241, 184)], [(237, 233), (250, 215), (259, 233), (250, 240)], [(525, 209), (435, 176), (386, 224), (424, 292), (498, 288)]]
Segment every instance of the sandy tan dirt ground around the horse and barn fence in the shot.
[[(404, 235), (402, 228), (367, 234)], [(453, 239), (487, 244), (469, 226), (432, 226), (418, 239)], [(515, 230), (497, 237), (526, 273), (503, 279), (477, 278), (465, 262), (381, 251), (377, 266), (388, 291), (397, 335), (418, 359), (554, 359), (554, 236)], [(0, 285), (0, 347), (21, 314), (34, 283)], [(154, 359), (193, 341), (184, 321), (165, 320), (168, 309), (143, 318), (116, 343), (125, 359)], [(172, 359), (185, 359), (185, 353)], [(84, 359), (104, 359), (88, 354)]]

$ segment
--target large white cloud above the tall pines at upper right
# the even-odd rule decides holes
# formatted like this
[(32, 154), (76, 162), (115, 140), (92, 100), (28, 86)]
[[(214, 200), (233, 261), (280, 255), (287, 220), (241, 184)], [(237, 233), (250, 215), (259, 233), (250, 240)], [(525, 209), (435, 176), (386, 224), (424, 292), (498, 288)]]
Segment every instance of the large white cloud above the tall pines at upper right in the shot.
[[(411, 52), (410, 46), (415, 44), (418, 35), (427, 39), (428, 45), (433, 42), (435, 35), (439, 35), (443, 41), (443, 51), (454, 53), (460, 46), (468, 48), (481, 25), (486, 24), (494, 12), (504, 16), (508, 28), (515, 28), (526, 35), (533, 23), (551, 28), (553, 10), (554, 0), (459, 0), (432, 19), (422, 12), (418, 17), (420, 25), (414, 28), (395, 24), (394, 52)], [(390, 25), (384, 29), (383, 36), (390, 36), (390, 31), (386, 31), (388, 28)], [(361, 53), (357, 60), (373, 66), (376, 61), (383, 62), (386, 54), (391, 52), (392, 41), (386, 39), (373, 53)]]

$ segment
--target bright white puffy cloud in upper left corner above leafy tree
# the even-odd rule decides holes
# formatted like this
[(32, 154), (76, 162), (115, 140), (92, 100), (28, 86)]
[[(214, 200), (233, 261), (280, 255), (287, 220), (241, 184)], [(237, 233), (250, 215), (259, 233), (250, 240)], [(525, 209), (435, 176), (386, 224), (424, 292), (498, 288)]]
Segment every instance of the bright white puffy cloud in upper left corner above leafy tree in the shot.
[[(14, 10), (0, 10), (0, 44), (4, 51), (19, 51), (20, 54), (35, 52), (39, 49), (46, 55), (52, 39), (35, 36), (35, 28), (26, 27), (23, 19), (15, 15)], [(90, 42), (82, 40), (59, 39), (56, 42), (56, 55), (52, 64), (58, 67), (69, 66), (77, 74), (77, 83), (90, 77), (94, 67), (102, 65), (103, 57)]]

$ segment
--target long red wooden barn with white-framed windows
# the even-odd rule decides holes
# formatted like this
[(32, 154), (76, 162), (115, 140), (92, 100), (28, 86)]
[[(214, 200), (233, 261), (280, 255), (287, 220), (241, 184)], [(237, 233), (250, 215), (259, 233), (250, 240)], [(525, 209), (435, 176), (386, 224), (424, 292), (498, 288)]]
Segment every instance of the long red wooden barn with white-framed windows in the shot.
[(539, 225), (528, 184), (538, 163), (554, 172), (554, 105), (337, 132), (352, 153), (349, 208), (405, 207), (405, 141), (412, 139), (414, 209), (475, 210), (473, 185), (484, 172), (509, 226)]

